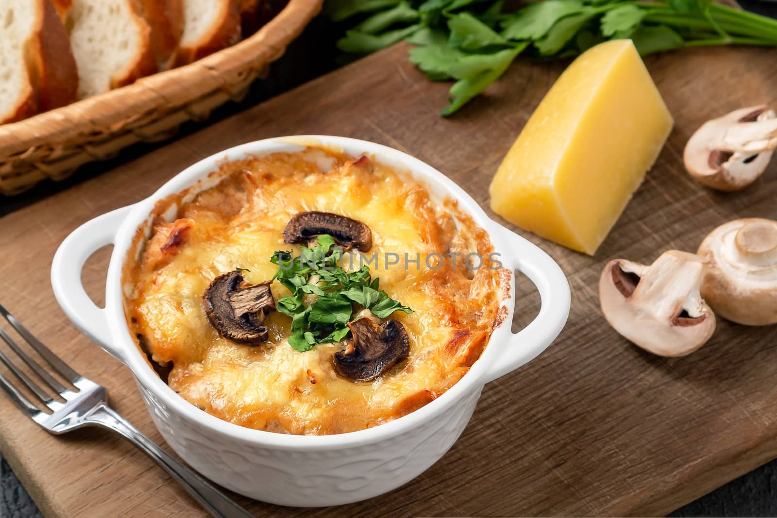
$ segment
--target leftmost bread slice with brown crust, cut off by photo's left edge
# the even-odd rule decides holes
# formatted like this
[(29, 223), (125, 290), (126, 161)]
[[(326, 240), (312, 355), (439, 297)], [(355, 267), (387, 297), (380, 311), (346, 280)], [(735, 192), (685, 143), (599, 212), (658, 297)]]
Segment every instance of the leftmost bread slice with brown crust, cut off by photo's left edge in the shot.
[(0, 123), (75, 101), (78, 75), (50, 0), (0, 2)]

